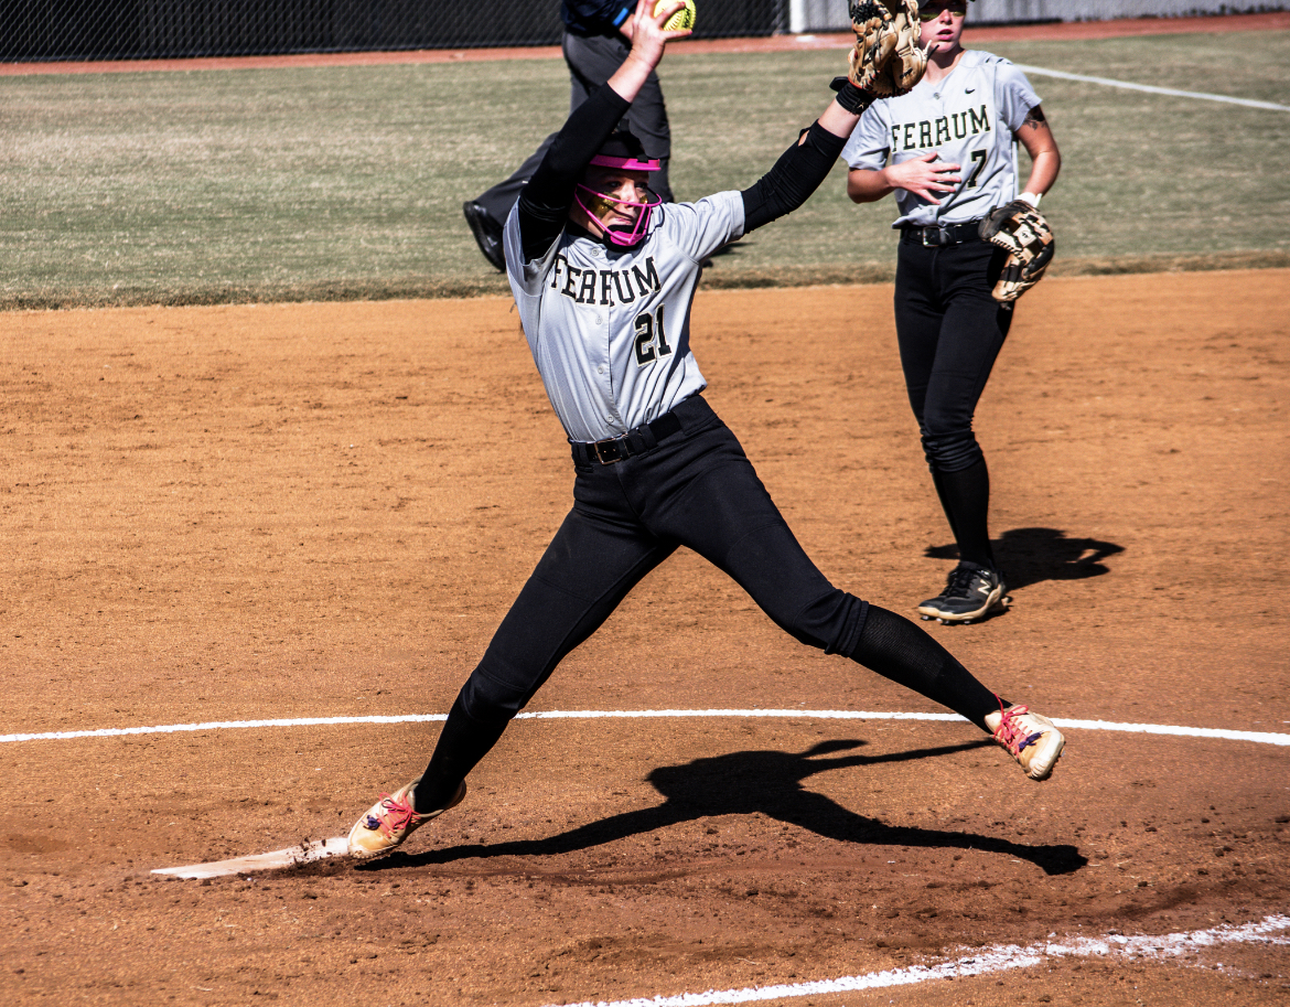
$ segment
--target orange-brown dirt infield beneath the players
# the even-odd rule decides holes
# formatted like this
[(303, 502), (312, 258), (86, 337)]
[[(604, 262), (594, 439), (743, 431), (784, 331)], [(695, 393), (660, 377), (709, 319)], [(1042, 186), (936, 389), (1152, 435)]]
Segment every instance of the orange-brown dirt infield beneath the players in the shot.
[[(978, 429), (1006, 615), (930, 626), (1071, 719), (1285, 733), (1286, 271), (1050, 278)], [(947, 532), (890, 287), (707, 290), (710, 400), (820, 567), (911, 612)], [(569, 504), (507, 301), (9, 312), (0, 732), (441, 713)], [(538, 710), (930, 711), (690, 554)], [(1285, 748), (1071, 729), (525, 720), (369, 868), (154, 868), (343, 834), (433, 724), (5, 740), (0, 999), (541, 1007), (1284, 913)], [(970, 951), (968, 951), (970, 954)], [(1053, 958), (795, 1004), (1285, 1003), (1284, 944)]]

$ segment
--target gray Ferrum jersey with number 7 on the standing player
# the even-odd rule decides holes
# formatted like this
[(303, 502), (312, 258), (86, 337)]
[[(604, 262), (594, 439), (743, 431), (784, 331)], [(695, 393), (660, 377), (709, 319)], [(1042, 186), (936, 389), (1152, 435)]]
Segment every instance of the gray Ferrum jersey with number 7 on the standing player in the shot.
[(962, 182), (935, 207), (898, 188), (900, 217), (911, 223), (965, 223), (1017, 199), (1013, 133), (1040, 103), (1026, 75), (1007, 59), (969, 49), (948, 76), (921, 80), (908, 94), (873, 102), (842, 148), (851, 168), (881, 170), (928, 151), (961, 165)]

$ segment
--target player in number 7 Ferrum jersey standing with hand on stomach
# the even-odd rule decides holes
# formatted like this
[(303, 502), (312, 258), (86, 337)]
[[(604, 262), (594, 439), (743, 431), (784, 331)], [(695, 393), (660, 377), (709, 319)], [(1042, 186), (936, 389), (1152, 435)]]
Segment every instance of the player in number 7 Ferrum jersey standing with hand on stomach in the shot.
[(1037, 207), (1062, 164), (1038, 96), (1009, 61), (962, 48), (968, 0), (920, 5), (928, 71), (876, 101), (842, 151), (857, 203), (895, 192), (900, 231), (895, 325), (909, 404), (931, 480), (958, 545), (946, 589), (924, 618), (970, 622), (1005, 604), (989, 544), (989, 473), (973, 414), (1013, 321), (991, 290), (1006, 253), (978, 225), (1018, 198), (1017, 142), (1033, 167), (1020, 198)]

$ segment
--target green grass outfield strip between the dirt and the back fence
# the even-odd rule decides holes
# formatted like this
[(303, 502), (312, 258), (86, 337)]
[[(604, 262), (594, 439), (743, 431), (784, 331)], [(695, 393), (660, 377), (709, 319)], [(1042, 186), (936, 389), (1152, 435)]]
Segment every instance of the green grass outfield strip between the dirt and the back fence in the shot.
[[(1284, 31), (987, 48), (1290, 105)], [(671, 54), (677, 198), (753, 182), (842, 66)], [(1054, 272), (1290, 265), (1290, 112), (1032, 84), (1064, 156), (1044, 204)], [(568, 94), (559, 59), (0, 77), (0, 307), (501, 293), (461, 203), (559, 127)], [(894, 203), (853, 205), (844, 174), (706, 281), (888, 279)]]

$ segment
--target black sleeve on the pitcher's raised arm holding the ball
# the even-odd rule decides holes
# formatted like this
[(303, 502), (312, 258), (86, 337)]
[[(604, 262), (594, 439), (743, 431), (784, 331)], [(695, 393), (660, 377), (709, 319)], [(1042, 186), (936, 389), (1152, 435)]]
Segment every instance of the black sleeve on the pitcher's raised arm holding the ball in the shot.
[(631, 102), (604, 84), (569, 114), (520, 195), (520, 241), (525, 262), (541, 258), (560, 236), (569, 219), (574, 186), (628, 108)]

